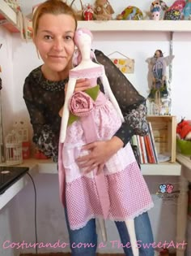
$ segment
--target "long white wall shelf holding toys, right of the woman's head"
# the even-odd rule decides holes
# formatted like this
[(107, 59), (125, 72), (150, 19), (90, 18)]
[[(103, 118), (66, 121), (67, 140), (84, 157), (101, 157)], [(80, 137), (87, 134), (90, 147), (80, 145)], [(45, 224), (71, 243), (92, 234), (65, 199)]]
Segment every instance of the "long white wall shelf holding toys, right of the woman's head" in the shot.
[(191, 32), (191, 20), (91, 20), (78, 21), (78, 27), (95, 32)]

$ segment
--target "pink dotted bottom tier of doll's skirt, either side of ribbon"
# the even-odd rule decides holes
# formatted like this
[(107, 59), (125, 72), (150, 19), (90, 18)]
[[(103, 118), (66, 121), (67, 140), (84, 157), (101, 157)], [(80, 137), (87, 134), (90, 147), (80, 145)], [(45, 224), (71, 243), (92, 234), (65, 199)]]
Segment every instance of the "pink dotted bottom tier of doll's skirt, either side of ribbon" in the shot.
[[(137, 163), (104, 178), (110, 199), (108, 219), (132, 219), (153, 206)], [(104, 218), (94, 178), (82, 176), (66, 183), (66, 205), (71, 229), (83, 228), (89, 219)]]

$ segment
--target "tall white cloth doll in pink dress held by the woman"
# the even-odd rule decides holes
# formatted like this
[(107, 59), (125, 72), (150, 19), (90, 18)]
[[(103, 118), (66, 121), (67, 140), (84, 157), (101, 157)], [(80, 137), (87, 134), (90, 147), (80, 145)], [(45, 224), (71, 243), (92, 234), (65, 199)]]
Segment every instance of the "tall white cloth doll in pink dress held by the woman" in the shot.
[[(91, 60), (91, 32), (79, 28), (74, 36), (79, 50), (78, 66), (70, 70), (59, 144), (59, 183), (71, 229), (83, 228), (88, 220), (125, 221), (134, 256), (138, 256), (134, 218), (153, 206), (133, 150), (128, 143), (105, 163), (86, 173), (76, 161), (88, 154), (83, 145), (107, 141), (124, 122), (112, 94), (104, 66)], [(77, 58), (77, 57), (76, 57)], [(87, 78), (91, 88), (74, 93), (76, 80)], [(104, 93), (97, 85), (100, 78)], [(66, 186), (64, 188), (64, 186)]]

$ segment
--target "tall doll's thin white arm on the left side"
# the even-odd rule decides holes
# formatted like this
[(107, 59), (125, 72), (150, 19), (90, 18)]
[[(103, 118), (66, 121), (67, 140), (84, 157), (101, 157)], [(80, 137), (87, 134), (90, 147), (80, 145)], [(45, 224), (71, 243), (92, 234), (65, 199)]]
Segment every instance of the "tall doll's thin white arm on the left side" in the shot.
[(72, 94), (74, 93), (75, 84), (76, 84), (76, 79), (70, 78), (70, 80), (68, 81), (66, 98), (65, 98), (65, 103), (64, 103), (63, 112), (62, 112), (61, 135), (60, 135), (60, 142), (62, 143), (64, 143), (66, 139), (66, 129), (67, 129), (68, 119), (70, 115), (69, 100)]

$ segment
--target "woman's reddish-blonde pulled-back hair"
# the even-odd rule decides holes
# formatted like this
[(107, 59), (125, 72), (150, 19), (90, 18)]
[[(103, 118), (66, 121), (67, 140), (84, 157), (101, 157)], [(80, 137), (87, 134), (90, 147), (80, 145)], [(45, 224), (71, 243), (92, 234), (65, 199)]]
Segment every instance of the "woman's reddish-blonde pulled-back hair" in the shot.
[(39, 20), (42, 15), (52, 14), (52, 15), (70, 15), (74, 18), (75, 21), (75, 29), (77, 28), (77, 20), (74, 14), (74, 11), (71, 7), (69, 7), (66, 2), (62, 0), (47, 0), (45, 2), (40, 3), (34, 11), (32, 15), (32, 30), (33, 35), (36, 36), (38, 31)]

